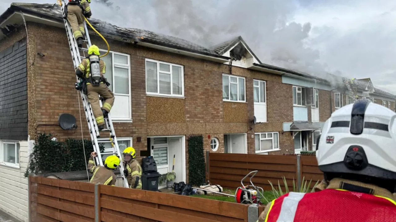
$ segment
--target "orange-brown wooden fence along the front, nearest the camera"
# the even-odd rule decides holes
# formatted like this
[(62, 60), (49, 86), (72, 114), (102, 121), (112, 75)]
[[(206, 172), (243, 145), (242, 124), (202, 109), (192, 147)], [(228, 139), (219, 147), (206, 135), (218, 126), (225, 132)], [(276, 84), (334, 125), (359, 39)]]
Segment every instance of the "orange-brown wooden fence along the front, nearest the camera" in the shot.
[(258, 216), (255, 207), (257, 213), (251, 218), (249, 207), (252, 206), (29, 176), (29, 218), (34, 222), (247, 222)]

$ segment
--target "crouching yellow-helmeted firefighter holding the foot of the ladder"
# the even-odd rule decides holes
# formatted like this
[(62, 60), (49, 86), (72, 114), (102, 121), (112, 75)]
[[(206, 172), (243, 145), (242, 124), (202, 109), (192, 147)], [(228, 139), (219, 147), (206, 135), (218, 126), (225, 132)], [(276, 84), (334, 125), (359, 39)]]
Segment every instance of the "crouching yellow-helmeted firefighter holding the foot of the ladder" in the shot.
[(93, 174), (89, 182), (114, 186), (116, 184), (116, 175), (113, 170), (117, 169), (120, 165), (120, 158), (116, 155), (111, 155), (106, 158), (105, 166), (95, 166), (95, 162), (93, 161), (95, 156), (96, 152), (91, 152), (91, 157), (88, 161), (88, 170)]

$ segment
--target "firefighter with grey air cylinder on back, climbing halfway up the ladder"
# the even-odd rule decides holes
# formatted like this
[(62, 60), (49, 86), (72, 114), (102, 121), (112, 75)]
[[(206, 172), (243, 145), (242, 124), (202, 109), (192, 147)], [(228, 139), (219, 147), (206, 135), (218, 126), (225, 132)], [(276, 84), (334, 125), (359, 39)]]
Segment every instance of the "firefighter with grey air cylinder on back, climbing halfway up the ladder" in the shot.
[[(91, 45), (88, 49), (88, 55), (78, 65), (76, 75), (86, 82), (86, 88), (84, 89), (86, 92), (84, 93), (91, 104), (99, 130), (103, 130), (105, 128), (104, 118), (107, 117), (114, 104), (114, 94), (109, 89), (110, 83), (103, 77), (106, 72), (106, 64), (99, 58), (99, 48), (96, 45)], [(99, 105), (99, 95), (105, 99), (102, 109)]]

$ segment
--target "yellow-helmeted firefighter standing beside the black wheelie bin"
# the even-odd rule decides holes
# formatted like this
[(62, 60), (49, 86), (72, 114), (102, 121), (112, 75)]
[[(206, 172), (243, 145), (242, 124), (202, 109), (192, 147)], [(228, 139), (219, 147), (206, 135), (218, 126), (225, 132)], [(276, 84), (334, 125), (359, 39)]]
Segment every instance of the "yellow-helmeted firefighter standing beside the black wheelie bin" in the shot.
[(142, 167), (139, 162), (135, 160), (135, 149), (133, 149), (133, 147), (127, 147), (122, 154), (124, 155), (124, 162), (126, 164), (124, 173), (127, 175), (126, 179), (128, 181), (129, 188), (141, 189)]

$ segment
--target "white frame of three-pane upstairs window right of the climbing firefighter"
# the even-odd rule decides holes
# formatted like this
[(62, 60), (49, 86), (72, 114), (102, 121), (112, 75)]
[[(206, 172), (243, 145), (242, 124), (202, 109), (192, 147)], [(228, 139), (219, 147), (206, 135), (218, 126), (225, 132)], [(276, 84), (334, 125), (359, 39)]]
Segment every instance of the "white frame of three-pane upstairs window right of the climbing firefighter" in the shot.
[[(155, 62), (157, 64), (157, 92), (147, 92), (147, 62)], [(166, 71), (161, 71), (164, 73), (170, 74), (171, 79), (171, 94), (163, 94), (160, 93), (160, 63), (169, 65), (169, 73)], [(181, 68), (181, 95), (173, 94), (173, 72), (172, 66), (178, 66)], [(164, 62), (160, 60), (145, 58), (145, 88), (146, 88), (146, 95), (147, 96), (161, 96), (161, 97), (176, 97), (176, 98), (184, 98), (184, 66), (179, 64), (174, 64), (171, 62)]]

